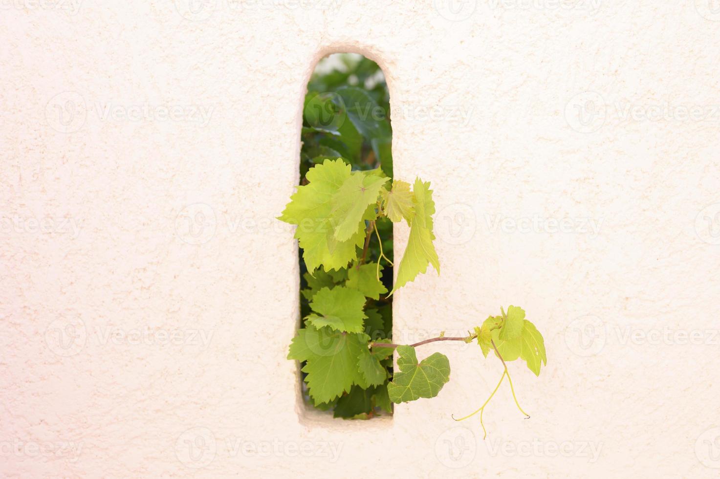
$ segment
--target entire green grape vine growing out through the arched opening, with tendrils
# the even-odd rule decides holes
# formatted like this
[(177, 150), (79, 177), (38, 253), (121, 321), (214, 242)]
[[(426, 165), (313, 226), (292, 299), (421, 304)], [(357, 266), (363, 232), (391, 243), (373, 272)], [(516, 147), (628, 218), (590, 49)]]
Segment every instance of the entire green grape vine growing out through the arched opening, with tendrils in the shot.
[[(372, 68), (362, 62), (353, 71), (356, 77), (372, 76)], [(392, 295), (429, 266), (440, 272), (433, 190), (420, 178), (412, 184), (392, 178), (392, 156), (389, 148), (381, 148), (388, 144), (390, 122), (361, 115), (368, 107), (389, 109), (387, 91), (374, 91), (366, 81), (365, 88), (344, 86), (337, 77), (330, 85), (330, 77), (313, 80), (330, 93), (313, 91), (311, 81), (302, 133), (302, 181), (279, 216), (297, 226), (294, 236), (302, 250), (302, 324), (287, 357), (302, 363), (312, 405), (332, 410), (336, 417), (367, 419), (392, 412), (393, 403), (433, 398), (449, 381), (449, 359), (435, 352), (418, 360), (416, 348), (464, 341), (477, 342), (484, 357), (491, 352), (498, 357), (503, 374), (485, 403), (456, 421), (480, 413), (485, 431), (485, 407), (505, 377), (516, 406), (528, 416), (518, 403), (507, 363), (522, 359), (539, 375), (547, 359), (543, 338), (522, 308), (500, 308), (500, 315), (472, 326), (474, 332), (467, 336), (441, 333), (415, 344), (392, 343)], [(397, 274), (394, 223), (410, 228)]]

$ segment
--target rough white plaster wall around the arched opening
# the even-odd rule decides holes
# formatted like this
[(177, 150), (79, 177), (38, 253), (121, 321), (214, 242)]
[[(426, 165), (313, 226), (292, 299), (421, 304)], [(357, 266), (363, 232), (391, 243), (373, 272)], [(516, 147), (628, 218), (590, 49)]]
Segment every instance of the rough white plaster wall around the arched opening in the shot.
[[(0, 5), (0, 475), (716, 477), (711, 2)], [(532, 418), (503, 388), (485, 441), (450, 418), (500, 375), (477, 346), (419, 350), (451, 382), (392, 418), (298, 401), (274, 217), (338, 51), (384, 68), (396, 176), (438, 204), (442, 275), (397, 293), (395, 339), (510, 303), (546, 338), (539, 379), (513, 365)]]

